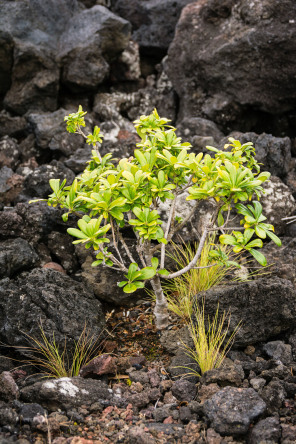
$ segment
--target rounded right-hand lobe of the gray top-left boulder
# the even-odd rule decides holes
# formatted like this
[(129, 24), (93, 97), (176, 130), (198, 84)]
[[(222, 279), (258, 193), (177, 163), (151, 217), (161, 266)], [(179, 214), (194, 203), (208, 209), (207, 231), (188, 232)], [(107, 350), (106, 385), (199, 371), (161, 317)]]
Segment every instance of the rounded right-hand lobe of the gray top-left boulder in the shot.
[(131, 25), (104, 6), (75, 15), (60, 38), (62, 80), (70, 88), (96, 89), (109, 73), (108, 61), (125, 49)]

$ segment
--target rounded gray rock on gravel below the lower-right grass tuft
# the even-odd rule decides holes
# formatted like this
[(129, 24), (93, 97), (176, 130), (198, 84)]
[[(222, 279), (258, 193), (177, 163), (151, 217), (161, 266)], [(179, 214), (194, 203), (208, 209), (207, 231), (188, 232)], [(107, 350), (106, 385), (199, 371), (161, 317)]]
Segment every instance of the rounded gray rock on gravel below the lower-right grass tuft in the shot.
[(221, 435), (244, 435), (266, 410), (265, 402), (251, 388), (225, 387), (204, 403), (205, 415)]

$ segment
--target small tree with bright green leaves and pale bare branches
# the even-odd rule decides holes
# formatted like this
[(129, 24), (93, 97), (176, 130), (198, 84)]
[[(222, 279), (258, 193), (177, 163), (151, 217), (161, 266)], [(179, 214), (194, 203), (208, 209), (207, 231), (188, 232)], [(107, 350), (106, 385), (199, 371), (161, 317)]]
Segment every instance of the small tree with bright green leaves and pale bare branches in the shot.
[[(94, 267), (102, 265), (123, 272), (126, 279), (118, 285), (125, 293), (143, 288), (145, 281), (150, 280), (156, 295), (154, 314), (158, 329), (168, 325), (161, 279), (174, 279), (196, 267), (210, 233), (220, 231), (221, 244), (231, 245), (236, 253), (248, 251), (263, 266), (266, 259), (256, 249), (262, 247), (262, 239), (268, 236), (281, 245), (273, 233), (273, 226), (264, 222), (266, 217), (262, 215), (259, 201), (242, 203), (251, 201), (254, 195), (259, 199), (264, 192), (262, 183), (270, 176), (268, 172), (260, 173), (251, 142), (241, 145), (230, 138), (230, 143), (225, 145), (227, 150), (207, 147), (214, 153), (213, 157), (196, 155), (189, 152), (189, 143), (182, 143), (176, 136), (169, 120), (160, 118), (154, 110), (151, 115), (141, 116), (134, 122), (141, 138), (134, 157), (115, 162), (111, 154), (101, 157), (98, 145), (103, 136), (97, 126), (92, 134), (84, 134), (85, 114), (80, 106), (77, 113), (65, 120), (70, 133), (81, 134), (93, 146), (92, 158), (72, 185), (66, 185), (66, 180), (62, 184), (59, 179), (50, 180), (53, 193), (47, 200), (48, 205), (66, 208), (64, 221), (70, 213), (79, 217), (78, 228), (68, 229), (68, 233), (77, 238), (73, 243), (93, 247), (97, 252)], [(196, 203), (182, 220), (175, 217), (175, 210), (184, 192), (187, 200)], [(201, 200), (212, 201), (214, 209), (196, 254), (182, 270), (170, 273), (165, 269), (166, 247), (192, 218)], [(159, 205), (166, 201), (169, 210), (164, 223)], [(242, 216), (239, 227), (228, 226), (232, 209)], [(134, 231), (140, 263), (136, 262), (124, 240), (122, 229), (126, 226)], [(108, 250), (110, 242), (112, 252)], [(119, 244), (126, 252), (128, 263), (122, 258)], [(232, 263), (218, 246), (210, 252), (210, 261), (210, 266)]]

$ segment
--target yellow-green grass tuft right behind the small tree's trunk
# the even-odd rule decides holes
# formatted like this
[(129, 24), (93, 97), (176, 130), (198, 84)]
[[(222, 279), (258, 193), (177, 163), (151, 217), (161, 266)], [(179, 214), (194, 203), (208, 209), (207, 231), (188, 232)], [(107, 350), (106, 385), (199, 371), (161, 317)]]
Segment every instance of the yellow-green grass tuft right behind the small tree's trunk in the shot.
[[(185, 243), (173, 244), (173, 251), (168, 256), (176, 263), (178, 269), (182, 269), (192, 261), (197, 248), (198, 243), (195, 243), (193, 247)], [(224, 245), (221, 245), (221, 251), (218, 254), (225, 255), (225, 264), (220, 261), (212, 266), (213, 260), (216, 259), (215, 248), (213, 239), (208, 239), (196, 263), (196, 268), (191, 268), (187, 273), (163, 283), (169, 310), (185, 322), (190, 321), (196, 294), (222, 284), (226, 276), (237, 269), (237, 262), (229, 260), (229, 248)]]

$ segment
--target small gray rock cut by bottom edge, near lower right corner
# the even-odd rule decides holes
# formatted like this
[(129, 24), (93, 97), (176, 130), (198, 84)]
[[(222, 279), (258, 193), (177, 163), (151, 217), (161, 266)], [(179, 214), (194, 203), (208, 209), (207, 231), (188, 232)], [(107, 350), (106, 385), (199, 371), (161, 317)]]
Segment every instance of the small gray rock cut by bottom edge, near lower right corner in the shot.
[(259, 442), (279, 442), (281, 438), (281, 427), (279, 419), (272, 416), (261, 419), (251, 430), (248, 443), (258, 444)]

